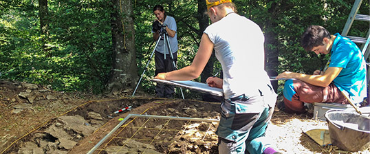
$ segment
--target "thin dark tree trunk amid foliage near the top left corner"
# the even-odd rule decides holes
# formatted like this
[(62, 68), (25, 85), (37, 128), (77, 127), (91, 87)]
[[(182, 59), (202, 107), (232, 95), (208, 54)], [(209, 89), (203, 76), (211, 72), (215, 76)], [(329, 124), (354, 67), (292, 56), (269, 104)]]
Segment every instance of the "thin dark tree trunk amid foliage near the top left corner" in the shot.
[(47, 19), (47, 0), (39, 0), (40, 29), (42, 34), (48, 33), (49, 21)]

